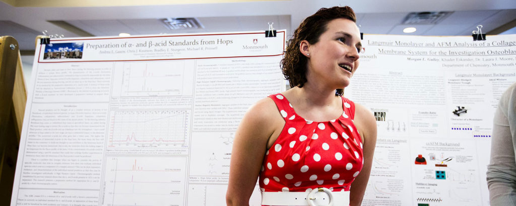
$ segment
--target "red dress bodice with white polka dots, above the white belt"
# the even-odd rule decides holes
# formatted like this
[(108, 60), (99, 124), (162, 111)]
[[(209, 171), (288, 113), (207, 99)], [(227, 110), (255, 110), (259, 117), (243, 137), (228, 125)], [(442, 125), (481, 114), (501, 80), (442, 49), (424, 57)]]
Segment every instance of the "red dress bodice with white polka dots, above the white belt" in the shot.
[(260, 172), (262, 192), (305, 192), (326, 187), (349, 191), (363, 167), (362, 141), (353, 124), (354, 103), (342, 97), (344, 112), (328, 122), (296, 114), (282, 94), (270, 95), (285, 127), (265, 153)]

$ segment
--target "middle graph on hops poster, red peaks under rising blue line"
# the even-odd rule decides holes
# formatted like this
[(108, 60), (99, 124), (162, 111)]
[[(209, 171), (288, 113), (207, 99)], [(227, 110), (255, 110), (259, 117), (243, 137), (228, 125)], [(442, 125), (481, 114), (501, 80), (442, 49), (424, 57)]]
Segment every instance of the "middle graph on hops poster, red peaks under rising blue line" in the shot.
[(187, 110), (111, 112), (108, 146), (185, 145), (190, 116)]

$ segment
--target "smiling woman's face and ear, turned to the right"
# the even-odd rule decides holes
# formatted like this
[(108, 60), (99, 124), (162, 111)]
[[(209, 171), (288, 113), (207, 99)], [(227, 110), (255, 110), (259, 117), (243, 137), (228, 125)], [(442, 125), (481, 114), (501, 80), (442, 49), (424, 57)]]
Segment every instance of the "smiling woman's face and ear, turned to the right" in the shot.
[(307, 50), (303, 54), (309, 59), (307, 83), (315, 81), (335, 89), (344, 88), (359, 64), (360, 31), (357, 24), (348, 19), (334, 19), (326, 28), (317, 43), (305, 42)]

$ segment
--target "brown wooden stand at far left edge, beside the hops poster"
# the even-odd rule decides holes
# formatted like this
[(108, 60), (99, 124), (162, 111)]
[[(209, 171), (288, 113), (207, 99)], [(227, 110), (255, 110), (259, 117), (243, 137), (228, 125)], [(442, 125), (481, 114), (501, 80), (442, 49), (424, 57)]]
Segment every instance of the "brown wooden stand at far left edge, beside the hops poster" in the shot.
[(18, 41), (0, 37), (0, 205), (9, 205), (27, 90)]

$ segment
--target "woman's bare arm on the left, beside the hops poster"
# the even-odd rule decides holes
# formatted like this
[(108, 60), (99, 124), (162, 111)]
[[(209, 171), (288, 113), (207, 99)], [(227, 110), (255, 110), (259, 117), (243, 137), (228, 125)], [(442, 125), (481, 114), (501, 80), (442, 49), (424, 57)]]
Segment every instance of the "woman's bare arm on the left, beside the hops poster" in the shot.
[(276, 111), (278, 110), (273, 100), (265, 98), (249, 108), (242, 118), (231, 152), (227, 205), (249, 205), (249, 198), (267, 150), (267, 142), (275, 131), (275, 126), (278, 123), (281, 126), (283, 121)]

